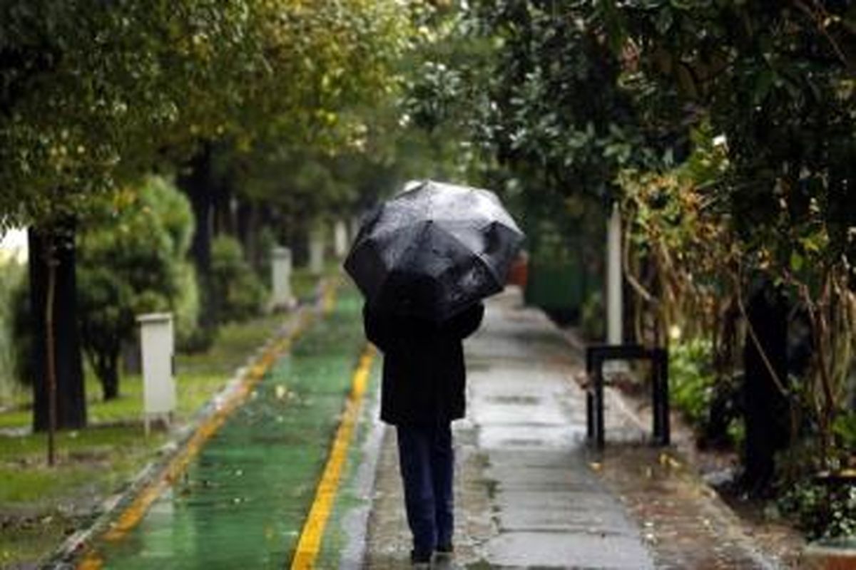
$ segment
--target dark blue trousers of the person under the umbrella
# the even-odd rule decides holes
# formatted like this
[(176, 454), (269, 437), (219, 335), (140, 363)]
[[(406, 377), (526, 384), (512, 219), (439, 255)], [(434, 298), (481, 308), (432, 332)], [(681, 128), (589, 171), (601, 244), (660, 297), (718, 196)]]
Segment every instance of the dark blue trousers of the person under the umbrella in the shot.
[(413, 554), (431, 555), (452, 544), (455, 453), (448, 422), (397, 426), (401, 479)]

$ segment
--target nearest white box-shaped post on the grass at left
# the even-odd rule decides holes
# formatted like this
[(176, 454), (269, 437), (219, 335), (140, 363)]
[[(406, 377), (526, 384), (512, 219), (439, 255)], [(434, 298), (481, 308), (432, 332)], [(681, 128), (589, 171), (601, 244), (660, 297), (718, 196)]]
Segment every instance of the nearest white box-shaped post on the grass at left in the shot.
[(175, 337), (170, 313), (141, 314), (137, 322), (143, 361), (143, 422), (148, 435), (152, 418), (163, 418), (169, 425), (175, 412)]

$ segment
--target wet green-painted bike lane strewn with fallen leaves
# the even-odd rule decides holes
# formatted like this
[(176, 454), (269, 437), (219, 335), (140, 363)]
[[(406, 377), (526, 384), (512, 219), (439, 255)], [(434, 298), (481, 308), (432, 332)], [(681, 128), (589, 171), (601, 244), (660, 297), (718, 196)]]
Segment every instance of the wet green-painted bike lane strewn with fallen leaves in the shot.
[[(289, 567), (347, 415), (358, 362), (371, 366), (369, 385), (377, 386), (377, 366), (360, 358), (366, 346), (360, 307), (357, 293), (342, 288), (332, 310), (294, 338), (140, 520), (112, 536), (105, 532), (78, 567)], [(361, 414), (367, 413), (363, 406)], [(365, 437), (366, 423), (357, 422), (354, 439)], [(336, 481), (341, 488), (329, 522), (322, 523), (317, 567), (337, 566), (347, 541), (339, 521), (363, 500), (348, 491), (360, 445), (347, 450), (342, 485)], [(314, 526), (318, 534), (317, 521)]]

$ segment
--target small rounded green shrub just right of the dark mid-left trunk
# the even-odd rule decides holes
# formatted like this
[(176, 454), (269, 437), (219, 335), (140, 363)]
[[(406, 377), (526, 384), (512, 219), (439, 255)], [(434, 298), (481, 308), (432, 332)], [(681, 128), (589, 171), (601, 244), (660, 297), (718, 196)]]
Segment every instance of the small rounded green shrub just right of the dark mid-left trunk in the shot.
[(247, 320), (264, 309), (265, 286), (235, 238), (218, 236), (211, 244), (211, 289), (223, 322)]

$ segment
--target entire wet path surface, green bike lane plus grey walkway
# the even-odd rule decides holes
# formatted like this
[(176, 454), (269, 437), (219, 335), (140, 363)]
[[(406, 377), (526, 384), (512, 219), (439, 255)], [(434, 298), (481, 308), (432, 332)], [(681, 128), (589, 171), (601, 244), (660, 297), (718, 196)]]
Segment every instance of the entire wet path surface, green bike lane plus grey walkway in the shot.
[[(81, 567), (409, 567), (395, 432), (377, 419), (379, 359), (339, 456), (342, 478), (327, 490), (317, 556), (294, 557), (336, 455), (354, 367), (366, 359), (360, 304), (344, 291), (140, 520), (113, 539), (107, 532)], [(467, 418), (455, 422), (460, 567), (788, 567), (758, 547), (675, 449), (644, 443), (647, 426), (615, 392), (606, 397), (606, 450), (588, 448), (585, 395), (574, 381), (580, 351), (544, 314), (523, 308), (520, 291), (490, 299), (466, 350)]]

